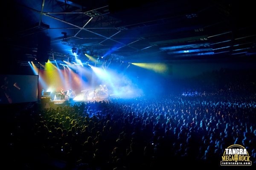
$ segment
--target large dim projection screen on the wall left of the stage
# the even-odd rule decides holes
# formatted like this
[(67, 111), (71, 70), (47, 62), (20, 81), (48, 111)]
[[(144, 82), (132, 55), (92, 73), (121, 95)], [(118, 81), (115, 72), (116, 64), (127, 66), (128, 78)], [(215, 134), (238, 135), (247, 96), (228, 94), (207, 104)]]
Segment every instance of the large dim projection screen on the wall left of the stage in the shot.
[(0, 104), (38, 101), (37, 75), (0, 74)]

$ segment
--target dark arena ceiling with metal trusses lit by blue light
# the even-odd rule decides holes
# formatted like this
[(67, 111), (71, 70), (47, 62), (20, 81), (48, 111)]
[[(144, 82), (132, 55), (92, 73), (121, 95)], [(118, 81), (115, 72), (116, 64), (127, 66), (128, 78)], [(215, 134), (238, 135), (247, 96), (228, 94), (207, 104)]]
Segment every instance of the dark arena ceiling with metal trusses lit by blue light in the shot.
[(247, 0), (10, 0), (2, 41), (18, 61), (48, 44), (50, 59), (72, 57), (72, 48), (81, 59), (125, 62), (254, 59), (253, 7)]

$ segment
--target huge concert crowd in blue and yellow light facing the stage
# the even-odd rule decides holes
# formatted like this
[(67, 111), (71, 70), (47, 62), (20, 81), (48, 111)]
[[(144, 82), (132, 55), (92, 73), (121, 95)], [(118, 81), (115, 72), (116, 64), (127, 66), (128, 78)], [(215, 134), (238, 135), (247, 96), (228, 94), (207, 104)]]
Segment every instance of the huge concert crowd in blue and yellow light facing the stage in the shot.
[(225, 148), (240, 144), (253, 167), (255, 85), (214, 86), (214, 92), (202, 91), (201, 85), (180, 95), (113, 98), (9, 115), (9, 164), (25, 169), (225, 169), (220, 166)]

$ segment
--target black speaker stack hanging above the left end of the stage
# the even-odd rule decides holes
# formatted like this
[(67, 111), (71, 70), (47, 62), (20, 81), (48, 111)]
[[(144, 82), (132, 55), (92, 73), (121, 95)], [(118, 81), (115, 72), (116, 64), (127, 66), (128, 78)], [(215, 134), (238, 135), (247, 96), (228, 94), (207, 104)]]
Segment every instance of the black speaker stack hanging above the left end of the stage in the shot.
[(47, 35), (38, 35), (38, 62), (47, 62), (49, 59), (48, 51), (50, 50), (51, 38)]

